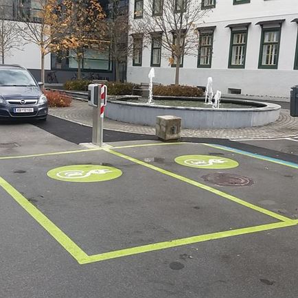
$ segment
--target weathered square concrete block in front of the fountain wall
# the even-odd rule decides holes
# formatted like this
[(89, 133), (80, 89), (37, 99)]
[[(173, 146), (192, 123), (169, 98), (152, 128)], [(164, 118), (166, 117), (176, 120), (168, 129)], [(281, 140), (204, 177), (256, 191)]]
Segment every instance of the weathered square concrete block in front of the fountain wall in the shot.
[(181, 120), (181, 117), (176, 116), (157, 116), (155, 126), (157, 137), (165, 141), (171, 139), (180, 139)]

